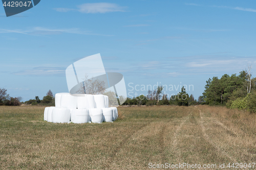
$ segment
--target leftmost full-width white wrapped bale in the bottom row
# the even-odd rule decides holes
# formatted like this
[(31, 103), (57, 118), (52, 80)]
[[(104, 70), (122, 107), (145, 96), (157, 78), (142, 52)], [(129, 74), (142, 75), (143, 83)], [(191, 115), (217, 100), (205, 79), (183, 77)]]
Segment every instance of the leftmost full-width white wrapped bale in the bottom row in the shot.
[(52, 123), (69, 123), (70, 109), (66, 108), (53, 108), (52, 110)]

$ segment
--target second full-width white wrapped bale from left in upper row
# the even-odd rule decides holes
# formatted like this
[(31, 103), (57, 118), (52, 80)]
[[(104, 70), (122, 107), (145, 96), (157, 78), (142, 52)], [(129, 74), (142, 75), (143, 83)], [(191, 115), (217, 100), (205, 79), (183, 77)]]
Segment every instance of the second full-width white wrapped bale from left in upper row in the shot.
[(77, 109), (92, 109), (95, 107), (92, 94), (77, 94)]

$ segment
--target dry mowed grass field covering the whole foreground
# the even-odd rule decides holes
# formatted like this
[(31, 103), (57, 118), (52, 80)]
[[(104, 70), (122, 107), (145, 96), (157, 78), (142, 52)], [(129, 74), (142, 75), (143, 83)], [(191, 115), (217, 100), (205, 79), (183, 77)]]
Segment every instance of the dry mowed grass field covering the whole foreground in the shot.
[(256, 161), (255, 114), (210, 106), (118, 107), (118, 114), (113, 123), (53, 124), (44, 121), (44, 107), (0, 107), (0, 169), (151, 169), (149, 163), (184, 162), (230, 169), (229, 162)]

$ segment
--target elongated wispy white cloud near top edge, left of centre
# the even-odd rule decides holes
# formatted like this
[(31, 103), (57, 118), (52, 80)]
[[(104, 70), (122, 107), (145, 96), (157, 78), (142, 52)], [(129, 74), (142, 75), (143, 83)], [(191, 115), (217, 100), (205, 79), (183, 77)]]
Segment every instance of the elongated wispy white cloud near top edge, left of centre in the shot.
[(58, 12), (69, 12), (69, 11), (79, 11), (81, 13), (107, 13), (107, 12), (125, 12), (126, 7), (120, 7), (113, 3), (86, 3), (78, 5), (77, 9), (71, 8), (54, 8)]

